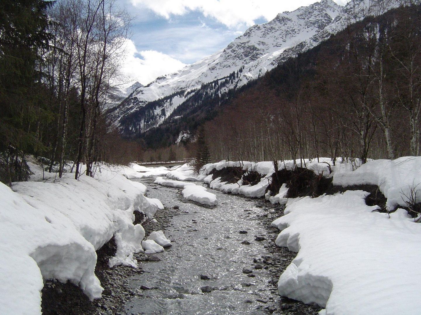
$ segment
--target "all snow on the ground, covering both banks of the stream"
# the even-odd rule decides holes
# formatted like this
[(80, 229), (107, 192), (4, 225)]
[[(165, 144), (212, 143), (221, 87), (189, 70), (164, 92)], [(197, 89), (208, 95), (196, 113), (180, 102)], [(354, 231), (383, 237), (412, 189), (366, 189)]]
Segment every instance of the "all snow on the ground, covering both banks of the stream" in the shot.
[[(275, 196), (266, 194), (271, 202), (286, 202), (285, 215), (272, 223), (281, 230), (276, 244), (298, 252), (280, 276), (280, 294), (316, 302), (325, 307), (320, 314), (419, 312), (421, 225), (401, 207), (408, 206), (409, 199), (421, 203), (421, 157), (370, 160), (356, 170), (355, 164), (337, 160), (334, 166), (330, 159), (282, 161), (276, 168), (292, 169), (301, 163), (332, 177), (334, 185), (379, 186), (392, 213), (367, 206), (368, 193), (361, 190), (286, 199), (288, 187), (282, 185)], [(171, 244), (162, 231), (143, 240), (144, 229), (133, 225), (133, 211), (152, 218), (163, 205), (144, 196), (143, 184), (127, 178), (167, 176), (156, 182), (183, 188), (186, 198), (217, 205), (215, 194), (192, 181), (223, 192), (264, 197), (275, 170), (272, 162), (221, 161), (205, 165), (195, 176), (188, 165), (176, 169), (101, 165), (95, 178), (81, 176), (76, 181), (73, 174), (58, 178), (34, 163), (29, 166), (34, 172), (30, 181), (13, 183), (13, 190), (0, 183), (0, 314), (40, 314), (43, 278), (69, 280), (90, 299), (100, 297), (95, 251), (113, 235), (117, 253), (110, 266), (136, 266), (134, 252), (159, 252)], [(243, 178), (230, 184), (209, 176), (227, 166), (257, 172), (262, 179), (252, 186)]]

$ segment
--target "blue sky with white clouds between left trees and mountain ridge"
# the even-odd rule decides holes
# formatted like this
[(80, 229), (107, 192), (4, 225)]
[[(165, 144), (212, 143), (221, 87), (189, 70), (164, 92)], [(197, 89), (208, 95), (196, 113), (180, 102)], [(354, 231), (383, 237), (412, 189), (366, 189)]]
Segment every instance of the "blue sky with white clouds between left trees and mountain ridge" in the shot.
[[(336, 0), (343, 4), (346, 0)], [(226, 47), (253, 24), (314, 0), (117, 0), (134, 17), (123, 72), (147, 84)]]

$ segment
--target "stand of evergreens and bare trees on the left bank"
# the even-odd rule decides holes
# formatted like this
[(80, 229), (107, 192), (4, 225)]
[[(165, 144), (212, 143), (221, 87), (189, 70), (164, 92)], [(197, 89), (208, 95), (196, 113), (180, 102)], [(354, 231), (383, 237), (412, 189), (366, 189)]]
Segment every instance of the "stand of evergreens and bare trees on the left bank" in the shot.
[[(131, 17), (112, 0), (0, 3), (0, 180), (26, 180), (28, 155), (59, 176), (67, 161), (93, 175), (122, 162), (124, 141), (105, 115)], [(114, 151), (115, 152), (115, 151)]]

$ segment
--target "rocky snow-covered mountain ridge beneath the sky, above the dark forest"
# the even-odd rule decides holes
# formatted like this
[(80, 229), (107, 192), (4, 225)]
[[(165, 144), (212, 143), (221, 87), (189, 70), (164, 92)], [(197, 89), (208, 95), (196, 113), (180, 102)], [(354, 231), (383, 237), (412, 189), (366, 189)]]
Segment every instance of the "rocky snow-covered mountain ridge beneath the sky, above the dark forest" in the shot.
[[(173, 74), (158, 77), (146, 87), (137, 87), (121, 104), (111, 108), (109, 115), (127, 135), (159, 126), (173, 118), (173, 111), (194, 96), (203, 84), (229, 77), (225, 90), (241, 87), (282, 61), (318, 45), (344, 29), (349, 21), (360, 20), (368, 2), (363, 0), (355, 8), (352, 2), (340, 6), (332, 0), (321, 0), (292, 12), (279, 13), (272, 21), (250, 27), (225, 49)], [(222, 95), (221, 90), (213, 93)], [(149, 108), (144, 108), (148, 104)], [(136, 112), (137, 121), (127, 126), (128, 119), (124, 118)]]

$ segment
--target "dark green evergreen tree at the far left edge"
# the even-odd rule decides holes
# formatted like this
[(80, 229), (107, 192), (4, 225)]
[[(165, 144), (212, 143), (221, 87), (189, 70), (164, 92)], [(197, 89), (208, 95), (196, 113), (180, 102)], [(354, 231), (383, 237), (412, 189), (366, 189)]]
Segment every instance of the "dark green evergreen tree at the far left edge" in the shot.
[(0, 180), (25, 180), (24, 156), (39, 152), (40, 123), (51, 119), (43, 102), (43, 50), (48, 49), (44, 0), (0, 2)]

